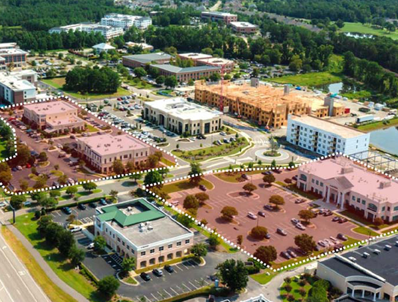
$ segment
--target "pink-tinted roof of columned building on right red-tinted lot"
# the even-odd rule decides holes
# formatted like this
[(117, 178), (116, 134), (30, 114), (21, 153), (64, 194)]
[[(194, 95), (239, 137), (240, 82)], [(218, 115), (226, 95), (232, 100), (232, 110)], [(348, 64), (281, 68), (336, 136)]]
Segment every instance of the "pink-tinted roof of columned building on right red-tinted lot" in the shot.
[[(334, 179), (339, 187), (351, 188), (352, 191), (374, 201), (397, 201), (398, 183), (396, 181), (368, 171), (343, 156), (310, 162), (301, 165), (299, 170), (324, 180)], [(388, 183), (388, 185), (382, 188), (381, 183)]]

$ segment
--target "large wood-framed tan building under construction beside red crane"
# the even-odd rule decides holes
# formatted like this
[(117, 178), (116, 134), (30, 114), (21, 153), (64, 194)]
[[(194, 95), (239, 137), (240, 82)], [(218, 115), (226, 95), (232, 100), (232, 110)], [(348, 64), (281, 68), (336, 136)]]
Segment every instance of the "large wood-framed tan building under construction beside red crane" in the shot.
[(344, 107), (334, 98), (319, 97), (298, 91), (290, 91), (289, 86), (275, 88), (259, 85), (256, 78), (251, 83), (237, 85), (229, 81), (218, 84), (195, 82), (195, 100), (209, 106), (220, 107), (230, 112), (254, 120), (259, 125), (279, 128), (286, 126), (289, 114), (312, 114), (317, 117), (344, 114)]

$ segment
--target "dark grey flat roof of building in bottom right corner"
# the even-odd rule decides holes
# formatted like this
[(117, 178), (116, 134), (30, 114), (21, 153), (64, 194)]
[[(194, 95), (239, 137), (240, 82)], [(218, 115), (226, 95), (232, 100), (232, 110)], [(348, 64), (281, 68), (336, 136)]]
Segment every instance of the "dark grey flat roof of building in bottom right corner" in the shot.
[[(340, 255), (342, 259), (333, 257), (321, 263), (344, 277), (370, 276), (375, 278), (375, 276), (372, 275), (375, 274), (385, 279), (385, 281), (393, 286), (397, 286), (398, 262), (396, 259), (398, 259), (398, 247), (395, 245), (396, 241), (397, 236), (393, 236), (342, 254)], [(392, 247), (389, 251), (384, 249), (386, 244)], [(379, 255), (374, 253), (375, 249), (380, 250), (381, 253)], [(370, 256), (368, 256), (368, 258), (362, 257), (364, 252), (370, 254)], [(354, 257), (356, 259), (355, 264), (351, 263), (348, 259), (349, 257)]]

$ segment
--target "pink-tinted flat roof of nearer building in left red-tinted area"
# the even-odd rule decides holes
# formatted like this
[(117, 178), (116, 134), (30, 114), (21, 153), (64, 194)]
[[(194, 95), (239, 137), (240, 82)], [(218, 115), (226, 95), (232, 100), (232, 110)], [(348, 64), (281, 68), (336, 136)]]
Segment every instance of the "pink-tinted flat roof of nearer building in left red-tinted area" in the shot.
[(102, 156), (123, 151), (149, 148), (149, 145), (145, 145), (140, 140), (132, 137), (129, 134), (115, 136), (111, 134), (103, 134), (88, 137), (78, 137), (77, 139), (78, 141), (84, 142), (93, 151)]

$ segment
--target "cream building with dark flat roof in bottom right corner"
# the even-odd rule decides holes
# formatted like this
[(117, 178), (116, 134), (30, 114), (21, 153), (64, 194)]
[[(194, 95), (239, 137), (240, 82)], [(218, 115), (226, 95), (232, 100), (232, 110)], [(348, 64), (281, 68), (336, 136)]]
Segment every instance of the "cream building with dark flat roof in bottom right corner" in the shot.
[(396, 236), (318, 261), (316, 276), (343, 292), (335, 302), (398, 300)]

